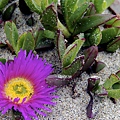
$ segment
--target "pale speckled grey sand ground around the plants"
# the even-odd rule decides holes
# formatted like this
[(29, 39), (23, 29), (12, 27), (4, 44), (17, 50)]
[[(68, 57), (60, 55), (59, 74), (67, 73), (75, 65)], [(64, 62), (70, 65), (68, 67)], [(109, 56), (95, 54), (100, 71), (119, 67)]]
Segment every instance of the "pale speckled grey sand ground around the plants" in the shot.
[[(18, 11), (15, 12), (14, 17), (18, 14)], [(27, 30), (32, 30), (34, 28), (28, 27), (25, 24), (24, 19), (20, 21), (21, 18), (17, 19), (17, 27), (19, 34)], [(35, 26), (36, 27), (36, 26)], [(0, 41), (5, 41), (6, 36), (3, 30), (2, 25), (0, 26)], [(47, 59), (49, 63), (52, 63), (54, 66), (54, 73), (59, 73), (60, 62), (56, 50), (51, 51), (40, 51), (40, 57)], [(9, 50), (0, 48), (0, 58), (13, 59), (14, 55), (11, 54)], [(117, 50), (115, 53), (106, 53), (100, 52), (97, 57), (98, 60), (101, 60), (106, 63), (106, 67), (97, 74), (101, 77), (101, 84), (106, 80), (111, 73), (115, 73), (120, 69), (120, 50)], [(79, 97), (75, 99), (72, 98), (72, 87), (71, 85), (58, 88), (56, 94), (59, 96), (58, 99), (54, 100), (57, 102), (55, 107), (51, 107), (52, 113), (48, 113), (48, 116), (43, 118), (40, 117), (40, 120), (89, 120), (86, 116), (86, 107), (89, 102), (89, 96), (86, 93), (87, 88), (87, 78), (90, 77), (86, 73), (83, 73), (81, 77), (76, 80), (75, 90), (79, 93)], [(98, 112), (94, 120), (120, 120), (120, 100), (117, 101), (117, 104), (113, 104), (109, 98), (98, 98), (95, 97), (94, 100), (94, 112)], [(10, 120), (10, 117), (6, 115), (1, 115), (1, 120)]]

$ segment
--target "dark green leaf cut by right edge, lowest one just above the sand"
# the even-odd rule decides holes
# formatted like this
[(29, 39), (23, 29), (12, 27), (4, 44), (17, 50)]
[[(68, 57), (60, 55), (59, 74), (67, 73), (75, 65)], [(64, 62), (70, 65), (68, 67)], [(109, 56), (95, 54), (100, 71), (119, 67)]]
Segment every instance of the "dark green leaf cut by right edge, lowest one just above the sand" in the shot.
[(120, 37), (116, 38), (112, 42), (107, 45), (107, 51), (115, 52), (118, 48), (120, 48)]

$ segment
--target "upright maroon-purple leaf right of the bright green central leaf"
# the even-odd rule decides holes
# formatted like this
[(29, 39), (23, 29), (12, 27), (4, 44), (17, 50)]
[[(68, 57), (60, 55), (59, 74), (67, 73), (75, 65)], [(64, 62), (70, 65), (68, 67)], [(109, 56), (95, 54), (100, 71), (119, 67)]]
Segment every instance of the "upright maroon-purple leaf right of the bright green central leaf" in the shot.
[(83, 65), (82, 71), (86, 71), (95, 61), (95, 58), (98, 54), (98, 47), (91, 46), (88, 49), (84, 50), (83, 54), (85, 55), (85, 63)]

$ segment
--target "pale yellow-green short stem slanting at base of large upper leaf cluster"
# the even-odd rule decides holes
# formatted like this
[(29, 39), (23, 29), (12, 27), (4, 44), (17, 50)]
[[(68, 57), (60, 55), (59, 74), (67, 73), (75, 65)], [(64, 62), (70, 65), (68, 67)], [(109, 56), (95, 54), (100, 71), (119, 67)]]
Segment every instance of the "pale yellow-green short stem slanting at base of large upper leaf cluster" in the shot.
[(57, 23), (57, 29), (60, 29), (66, 38), (69, 38), (71, 36), (68, 29), (60, 22), (59, 19)]

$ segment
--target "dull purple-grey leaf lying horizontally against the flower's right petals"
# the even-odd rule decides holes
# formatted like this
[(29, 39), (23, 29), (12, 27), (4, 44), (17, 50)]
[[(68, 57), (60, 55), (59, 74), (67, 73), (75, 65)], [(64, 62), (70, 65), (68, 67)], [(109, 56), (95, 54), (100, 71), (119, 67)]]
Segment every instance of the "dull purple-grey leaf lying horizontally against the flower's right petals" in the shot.
[(51, 86), (62, 87), (67, 85), (72, 80), (72, 76), (66, 75), (49, 75), (46, 78), (46, 82)]

